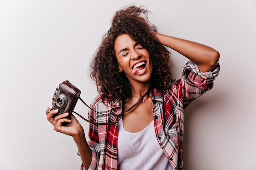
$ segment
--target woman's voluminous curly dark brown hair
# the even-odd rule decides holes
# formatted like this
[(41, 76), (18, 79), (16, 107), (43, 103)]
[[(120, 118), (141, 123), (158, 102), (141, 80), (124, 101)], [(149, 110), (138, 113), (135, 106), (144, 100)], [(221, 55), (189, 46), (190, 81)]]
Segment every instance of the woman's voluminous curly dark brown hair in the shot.
[(121, 34), (128, 34), (135, 41), (144, 46), (153, 63), (151, 75), (153, 86), (158, 90), (165, 90), (171, 80), (171, 53), (159, 42), (153, 32), (157, 32), (155, 25), (148, 22), (148, 10), (144, 7), (129, 6), (117, 11), (112, 19), (112, 26), (102, 38), (91, 64), (90, 77), (96, 82), (97, 90), (102, 99), (109, 102), (126, 101), (131, 97), (131, 88), (124, 73), (118, 70), (114, 44)]

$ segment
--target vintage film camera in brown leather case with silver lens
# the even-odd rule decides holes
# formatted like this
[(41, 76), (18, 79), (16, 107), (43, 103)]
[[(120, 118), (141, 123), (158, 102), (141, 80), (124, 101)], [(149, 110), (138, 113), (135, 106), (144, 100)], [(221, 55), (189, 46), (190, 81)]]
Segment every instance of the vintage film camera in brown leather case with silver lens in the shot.
[[(69, 113), (68, 119), (71, 119), (71, 115), (76, 106), (76, 102), (79, 99), (81, 91), (71, 84), (68, 80), (62, 82), (57, 86), (54, 95), (52, 97), (52, 108), (58, 109), (58, 113), (54, 115), (61, 115), (63, 113)], [(66, 124), (64, 124), (66, 125)]]

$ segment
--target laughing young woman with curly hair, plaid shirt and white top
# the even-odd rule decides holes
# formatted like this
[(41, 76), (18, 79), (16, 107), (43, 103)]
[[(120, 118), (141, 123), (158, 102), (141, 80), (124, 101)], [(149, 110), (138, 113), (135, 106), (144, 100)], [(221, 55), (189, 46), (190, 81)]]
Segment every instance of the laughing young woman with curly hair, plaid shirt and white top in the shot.
[[(46, 110), (54, 129), (74, 138), (90, 170), (183, 170), (183, 113), (213, 87), (219, 53), (209, 46), (157, 33), (144, 7), (117, 11), (91, 63), (99, 96), (89, 111), (89, 137), (68, 113)], [(189, 59), (171, 77), (170, 52)], [(62, 126), (68, 122), (67, 126)]]

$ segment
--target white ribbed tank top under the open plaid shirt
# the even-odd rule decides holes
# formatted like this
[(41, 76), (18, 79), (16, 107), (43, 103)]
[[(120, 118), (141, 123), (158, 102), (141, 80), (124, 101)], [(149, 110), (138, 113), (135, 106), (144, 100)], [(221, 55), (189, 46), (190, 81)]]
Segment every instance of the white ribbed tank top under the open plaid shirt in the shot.
[(124, 130), (119, 121), (118, 170), (173, 170), (155, 136), (153, 121), (142, 131)]

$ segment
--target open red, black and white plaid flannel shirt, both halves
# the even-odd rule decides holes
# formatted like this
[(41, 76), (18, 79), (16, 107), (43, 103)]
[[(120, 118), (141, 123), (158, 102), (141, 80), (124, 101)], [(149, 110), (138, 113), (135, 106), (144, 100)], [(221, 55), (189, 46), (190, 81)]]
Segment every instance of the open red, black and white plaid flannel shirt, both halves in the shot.
[[(173, 79), (166, 91), (153, 89), (152, 110), (156, 140), (173, 166), (173, 170), (183, 170), (183, 114), (184, 109), (194, 99), (213, 87), (220, 66), (212, 72), (202, 73), (198, 66), (189, 61), (181, 79)], [(94, 99), (89, 110), (89, 119), (94, 122), (115, 122), (122, 111), (121, 102), (110, 106), (102, 102), (101, 97)], [(114, 115), (114, 116), (113, 116)], [(117, 170), (118, 123), (114, 125), (90, 124), (88, 144), (92, 150), (92, 162), (89, 170)], [(81, 170), (84, 169), (83, 165)]]

